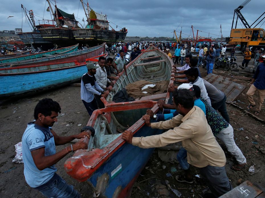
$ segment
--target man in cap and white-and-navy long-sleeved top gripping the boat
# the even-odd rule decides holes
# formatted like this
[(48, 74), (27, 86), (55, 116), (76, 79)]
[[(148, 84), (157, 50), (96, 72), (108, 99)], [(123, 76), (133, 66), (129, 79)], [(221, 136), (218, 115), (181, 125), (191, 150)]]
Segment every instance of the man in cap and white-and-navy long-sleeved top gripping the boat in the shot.
[(97, 109), (97, 101), (95, 95), (99, 97), (106, 97), (105, 91), (98, 85), (95, 74), (97, 68), (94, 63), (87, 64), (87, 73), (83, 74), (81, 80), (81, 100), (87, 109), (88, 114), (91, 116), (93, 111)]

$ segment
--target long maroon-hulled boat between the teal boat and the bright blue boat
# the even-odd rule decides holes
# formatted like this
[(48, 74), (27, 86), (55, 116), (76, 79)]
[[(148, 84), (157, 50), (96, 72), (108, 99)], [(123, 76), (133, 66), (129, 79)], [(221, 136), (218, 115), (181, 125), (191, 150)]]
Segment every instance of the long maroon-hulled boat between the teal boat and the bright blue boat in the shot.
[[(74, 51), (67, 54), (60, 54), (55, 56), (48, 56), (40, 59), (34, 59), (31, 62), (19, 62), (11, 64), (10, 67), (34, 66), (36, 64), (52, 64), (67, 61), (85, 62), (87, 58), (95, 57), (105, 53), (105, 44)], [(1, 69), (0, 69), (1, 70)]]

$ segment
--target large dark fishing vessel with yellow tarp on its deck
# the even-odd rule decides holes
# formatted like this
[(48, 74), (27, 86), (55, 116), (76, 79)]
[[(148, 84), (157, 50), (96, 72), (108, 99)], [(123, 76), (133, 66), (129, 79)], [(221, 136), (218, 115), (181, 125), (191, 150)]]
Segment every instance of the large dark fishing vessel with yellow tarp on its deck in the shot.
[[(83, 5), (83, 0), (80, 0)], [(109, 30), (109, 22), (107, 20), (107, 16), (103, 14), (99, 14), (92, 9), (89, 9), (89, 5), (87, 3), (87, 10), (83, 5), (83, 9), (85, 11), (85, 16), (87, 18), (86, 28), (73, 28), (74, 38), (78, 42), (116, 42), (116, 41), (124, 41), (127, 35), (127, 29), (122, 28), (120, 31), (116, 31), (112, 28)]]

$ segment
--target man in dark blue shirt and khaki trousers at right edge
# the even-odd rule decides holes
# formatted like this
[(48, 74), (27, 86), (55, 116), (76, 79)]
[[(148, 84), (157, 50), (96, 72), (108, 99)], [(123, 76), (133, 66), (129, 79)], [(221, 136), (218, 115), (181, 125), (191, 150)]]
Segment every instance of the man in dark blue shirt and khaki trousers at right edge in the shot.
[(248, 110), (252, 109), (252, 107), (256, 106), (255, 101), (253, 100), (253, 95), (256, 91), (258, 91), (258, 104), (255, 108), (254, 114), (258, 115), (260, 110), (261, 110), (261, 106), (262, 103), (264, 101), (265, 98), (265, 55), (261, 56), (263, 58), (263, 62), (261, 64), (258, 65), (256, 72), (250, 82), (250, 87), (248, 89), (248, 92), (246, 93), (248, 100), (249, 100), (249, 105), (247, 107)]

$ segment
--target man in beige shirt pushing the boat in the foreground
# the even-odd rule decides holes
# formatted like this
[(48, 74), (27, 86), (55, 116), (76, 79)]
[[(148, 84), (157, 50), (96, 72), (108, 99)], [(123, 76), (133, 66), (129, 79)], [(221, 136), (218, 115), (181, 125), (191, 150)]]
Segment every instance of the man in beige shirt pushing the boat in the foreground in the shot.
[(123, 139), (141, 148), (163, 147), (182, 141), (182, 146), (187, 150), (188, 163), (199, 168), (201, 177), (213, 193), (212, 197), (227, 193), (232, 186), (225, 172), (225, 154), (207, 124), (204, 112), (193, 106), (194, 92), (187, 89), (174, 91), (173, 104), (179, 115), (171, 120), (150, 123), (150, 116), (143, 116), (147, 126), (169, 129), (167, 132), (154, 136), (132, 137), (130, 131), (125, 131)]

